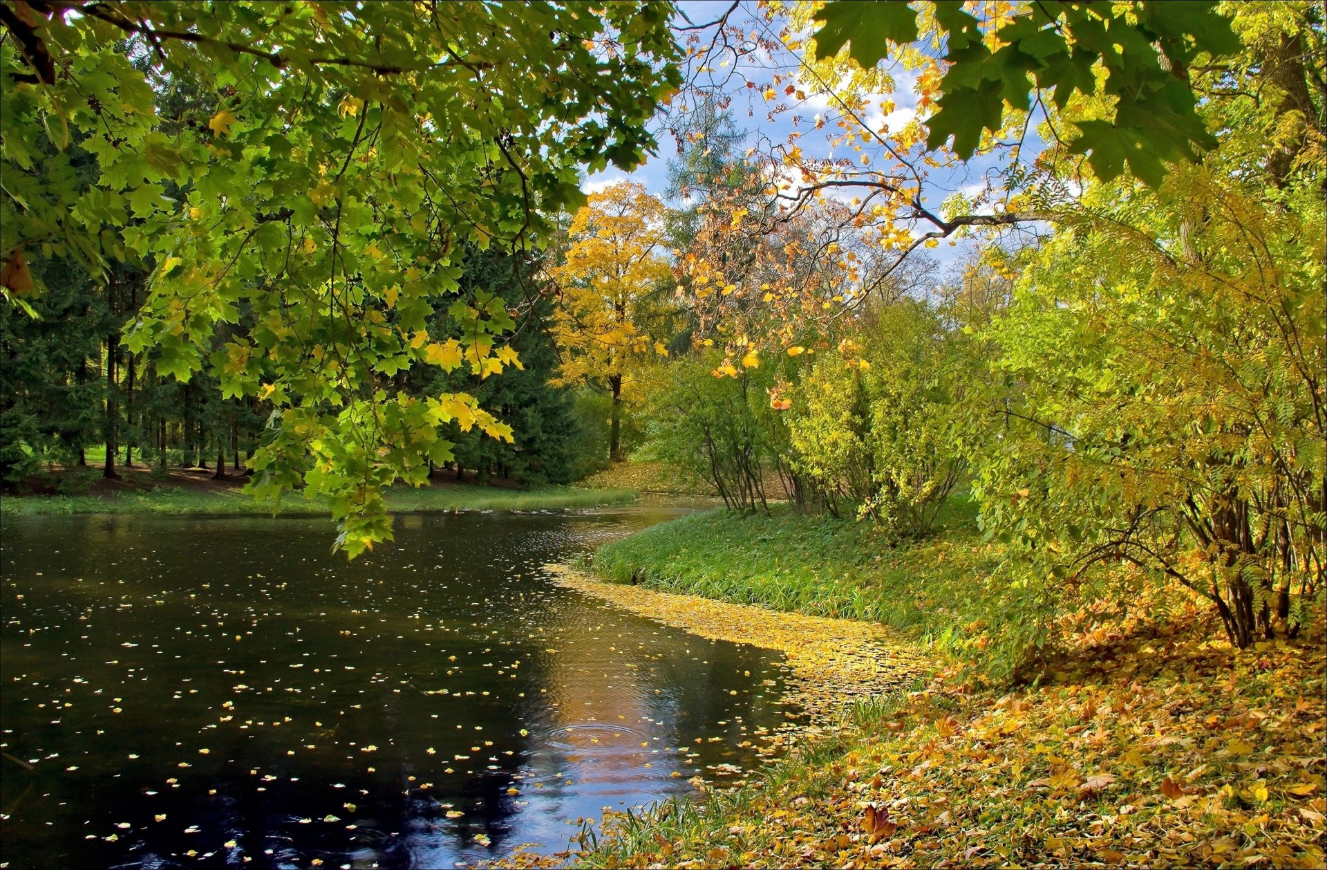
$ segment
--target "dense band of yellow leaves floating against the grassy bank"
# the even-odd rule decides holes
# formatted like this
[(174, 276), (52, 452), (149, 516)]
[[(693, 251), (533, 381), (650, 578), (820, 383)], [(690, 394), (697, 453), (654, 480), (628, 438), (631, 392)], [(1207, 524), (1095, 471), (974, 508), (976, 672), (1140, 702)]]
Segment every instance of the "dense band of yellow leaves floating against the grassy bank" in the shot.
[(747, 643), (784, 653), (788, 693), (817, 727), (844, 704), (916, 680), (932, 657), (904, 635), (876, 623), (787, 614), (697, 595), (605, 583), (563, 565), (544, 566), (555, 582), (634, 614), (710, 640)]

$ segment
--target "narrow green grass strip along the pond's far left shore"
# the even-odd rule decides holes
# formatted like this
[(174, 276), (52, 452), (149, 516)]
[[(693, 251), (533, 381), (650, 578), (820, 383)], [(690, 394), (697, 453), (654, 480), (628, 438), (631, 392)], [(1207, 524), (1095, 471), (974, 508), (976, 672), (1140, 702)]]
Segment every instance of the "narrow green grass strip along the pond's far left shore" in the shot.
[[(430, 487), (395, 487), (387, 493), (387, 506), (394, 511), (425, 510), (543, 510), (559, 507), (596, 507), (622, 505), (637, 498), (629, 489), (585, 489), (548, 486), (510, 490), (496, 486), (437, 485)], [(170, 486), (98, 495), (8, 495), (0, 499), (4, 515), (33, 514), (271, 514), (271, 502), (255, 501), (239, 490), (191, 491)], [(287, 495), (281, 515), (326, 515), (320, 501)]]

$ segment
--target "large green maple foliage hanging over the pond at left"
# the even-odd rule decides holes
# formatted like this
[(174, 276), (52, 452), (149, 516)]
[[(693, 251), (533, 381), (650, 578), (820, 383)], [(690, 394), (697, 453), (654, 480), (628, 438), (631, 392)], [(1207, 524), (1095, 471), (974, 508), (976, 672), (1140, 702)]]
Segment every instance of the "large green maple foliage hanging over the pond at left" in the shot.
[[(580, 205), (583, 167), (630, 167), (678, 84), (665, 3), (0, 4), (5, 299), (31, 305), (38, 252), (100, 274), (153, 264), (127, 336), (188, 379), (219, 324), (252, 317), (218, 367), (271, 402), (253, 489), (325, 497), (338, 545), (390, 538), (382, 487), (446, 460), (451, 421), (511, 432), (454, 393), (415, 398), (417, 361), (483, 377), (511, 364), (496, 298), (458, 299), (466, 243), (527, 243)], [(126, 52), (126, 40), (133, 50)], [(167, 124), (149, 54), (215, 113)], [(68, 142), (97, 161), (74, 183)], [(40, 147), (45, 139), (57, 150)], [(435, 309), (460, 325), (427, 333)]]

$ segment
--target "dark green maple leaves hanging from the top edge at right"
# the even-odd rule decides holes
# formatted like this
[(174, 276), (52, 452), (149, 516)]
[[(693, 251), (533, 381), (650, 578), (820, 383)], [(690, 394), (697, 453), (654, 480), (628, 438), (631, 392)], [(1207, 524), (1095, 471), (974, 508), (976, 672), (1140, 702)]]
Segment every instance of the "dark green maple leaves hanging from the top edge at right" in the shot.
[[(946, 65), (938, 112), (928, 120), (928, 145), (969, 158), (982, 134), (1003, 126), (1006, 104), (1016, 112), (1043, 97), (1064, 109), (1075, 94), (1112, 98), (1113, 117), (1076, 122), (1072, 150), (1088, 154), (1103, 181), (1129, 171), (1156, 187), (1166, 162), (1193, 162), (1217, 145), (1198, 116), (1189, 66), (1200, 52), (1227, 54), (1239, 40), (1216, 3), (1009, 4), (979, 17), (963, 3), (929, 4)], [(904, 3), (827, 3), (817, 17), (817, 53), (849, 54), (872, 68), (890, 44), (917, 40), (918, 13)], [(928, 16), (929, 19), (929, 16)], [(928, 28), (930, 29), (930, 28)], [(998, 41), (987, 39), (998, 33)]]

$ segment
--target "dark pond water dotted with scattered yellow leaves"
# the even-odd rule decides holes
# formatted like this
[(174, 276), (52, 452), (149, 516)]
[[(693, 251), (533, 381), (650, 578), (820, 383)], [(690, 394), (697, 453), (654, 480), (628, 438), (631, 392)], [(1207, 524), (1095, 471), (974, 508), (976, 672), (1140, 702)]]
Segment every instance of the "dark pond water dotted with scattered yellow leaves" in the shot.
[(7, 518), (0, 866), (450, 867), (731, 780), (776, 653), (540, 572), (677, 513), (401, 515), (350, 563), (320, 519)]

